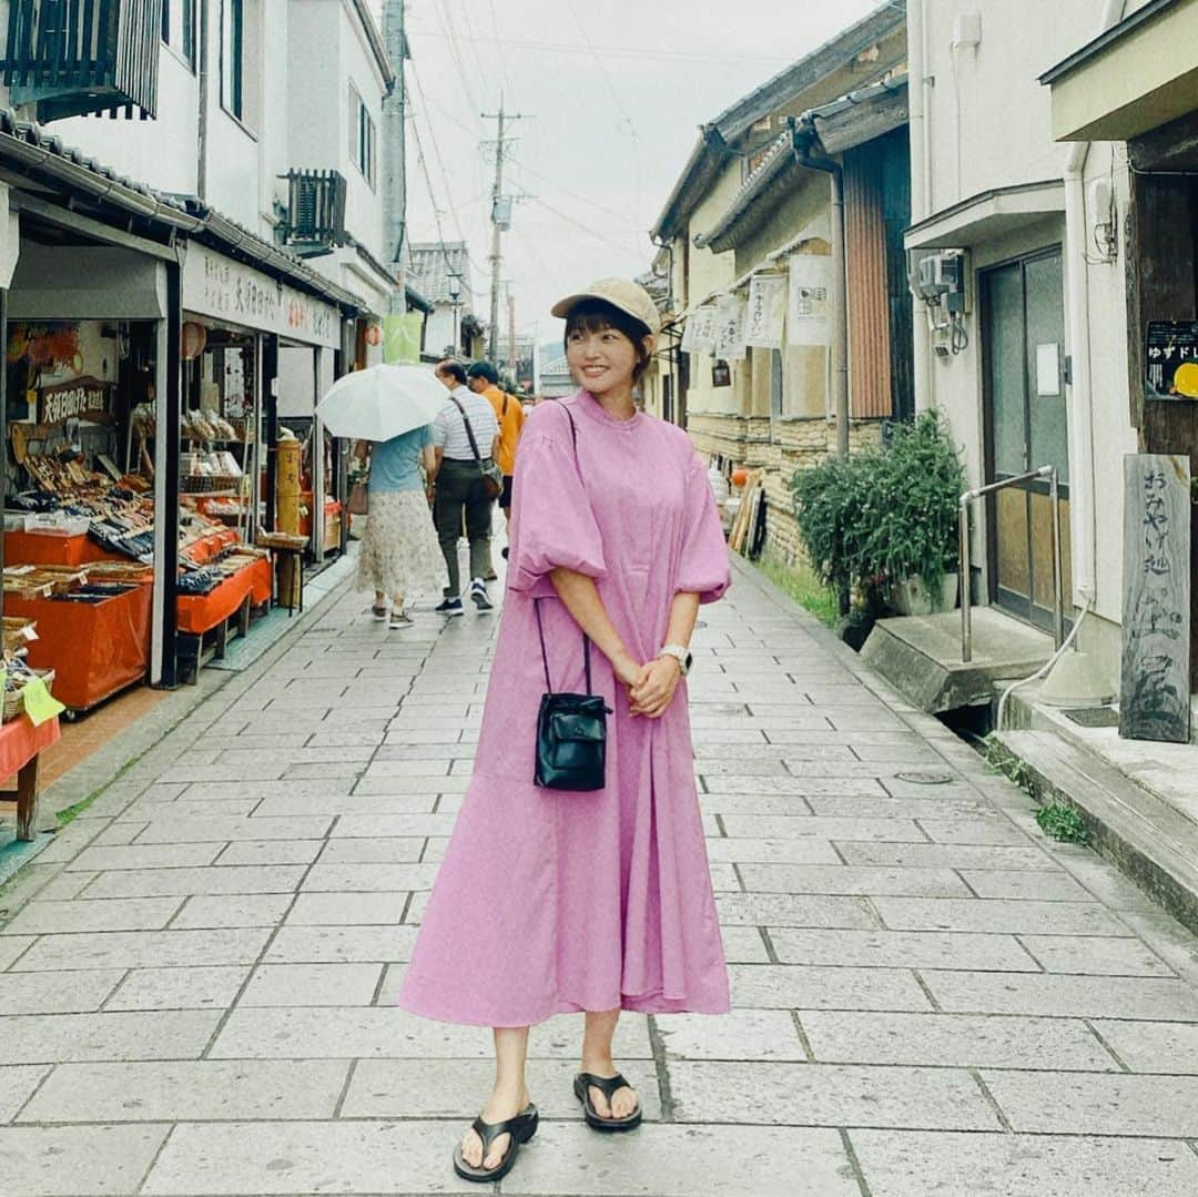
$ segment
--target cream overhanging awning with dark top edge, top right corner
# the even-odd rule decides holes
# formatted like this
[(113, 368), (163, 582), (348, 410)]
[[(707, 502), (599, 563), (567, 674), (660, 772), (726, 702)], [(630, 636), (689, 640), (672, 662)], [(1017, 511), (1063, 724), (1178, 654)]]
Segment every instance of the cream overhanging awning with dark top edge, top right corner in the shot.
[(1198, 108), (1198, 0), (1150, 0), (1040, 77), (1058, 141), (1126, 141)]

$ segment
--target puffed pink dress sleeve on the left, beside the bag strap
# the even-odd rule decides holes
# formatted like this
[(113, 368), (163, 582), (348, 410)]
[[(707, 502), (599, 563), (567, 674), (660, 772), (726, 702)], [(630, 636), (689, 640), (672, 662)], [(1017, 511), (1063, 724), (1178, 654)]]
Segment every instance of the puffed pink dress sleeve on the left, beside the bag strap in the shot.
[[(599, 579), (606, 573), (603, 537), (591, 510), (570, 443), (533, 422), (520, 440), (512, 491), (508, 587), (533, 598), (555, 594), (552, 569)], [(562, 421), (564, 424), (564, 421)]]

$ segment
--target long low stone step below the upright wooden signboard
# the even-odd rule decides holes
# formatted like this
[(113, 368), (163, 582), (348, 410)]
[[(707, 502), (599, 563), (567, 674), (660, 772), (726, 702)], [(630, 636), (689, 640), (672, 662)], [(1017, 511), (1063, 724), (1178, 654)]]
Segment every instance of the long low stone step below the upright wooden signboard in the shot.
[(994, 738), (1027, 767), (1039, 802), (1072, 806), (1095, 851), (1198, 931), (1198, 824), (1055, 732), (1005, 731)]

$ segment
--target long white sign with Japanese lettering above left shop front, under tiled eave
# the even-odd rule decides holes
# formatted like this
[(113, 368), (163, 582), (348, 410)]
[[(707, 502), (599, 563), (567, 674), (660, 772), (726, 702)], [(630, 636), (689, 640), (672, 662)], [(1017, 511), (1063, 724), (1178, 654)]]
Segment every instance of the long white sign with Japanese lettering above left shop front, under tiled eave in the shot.
[(202, 246), (187, 250), (183, 308), (289, 340), (340, 347), (340, 320), (332, 304)]

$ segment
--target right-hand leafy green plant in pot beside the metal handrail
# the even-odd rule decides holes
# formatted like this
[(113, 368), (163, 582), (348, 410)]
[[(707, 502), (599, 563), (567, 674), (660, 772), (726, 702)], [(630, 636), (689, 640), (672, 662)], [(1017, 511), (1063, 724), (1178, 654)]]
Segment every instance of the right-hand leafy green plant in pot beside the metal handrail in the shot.
[(956, 605), (957, 516), (964, 470), (934, 409), (895, 429), (878, 455), (876, 502), (861, 549), (863, 568), (885, 579), (885, 597), (901, 615), (930, 615)]

